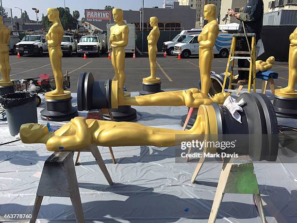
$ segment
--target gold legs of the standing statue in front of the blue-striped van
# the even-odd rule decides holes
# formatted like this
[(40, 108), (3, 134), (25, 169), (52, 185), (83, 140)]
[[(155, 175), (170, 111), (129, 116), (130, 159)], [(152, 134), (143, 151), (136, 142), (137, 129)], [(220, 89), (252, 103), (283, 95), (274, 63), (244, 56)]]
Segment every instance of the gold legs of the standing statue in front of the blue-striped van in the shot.
[(199, 58), (201, 93), (206, 95), (208, 94), (209, 88), (212, 84), (212, 81), (210, 78), (210, 71), (212, 68), (213, 59), (214, 59), (214, 54), (210, 50), (203, 51)]

